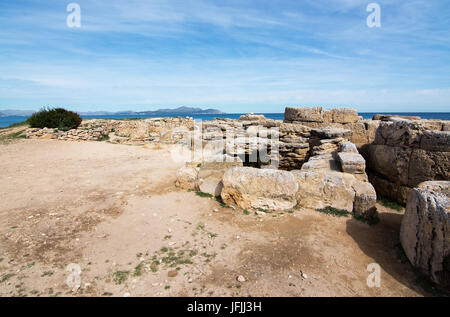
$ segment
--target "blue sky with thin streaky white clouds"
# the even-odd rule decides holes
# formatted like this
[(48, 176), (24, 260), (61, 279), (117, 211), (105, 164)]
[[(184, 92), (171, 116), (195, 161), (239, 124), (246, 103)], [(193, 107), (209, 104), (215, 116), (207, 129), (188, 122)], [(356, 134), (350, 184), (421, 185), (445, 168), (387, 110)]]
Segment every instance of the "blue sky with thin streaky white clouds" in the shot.
[(450, 111), (448, 1), (371, 2), (3, 0), (0, 110)]

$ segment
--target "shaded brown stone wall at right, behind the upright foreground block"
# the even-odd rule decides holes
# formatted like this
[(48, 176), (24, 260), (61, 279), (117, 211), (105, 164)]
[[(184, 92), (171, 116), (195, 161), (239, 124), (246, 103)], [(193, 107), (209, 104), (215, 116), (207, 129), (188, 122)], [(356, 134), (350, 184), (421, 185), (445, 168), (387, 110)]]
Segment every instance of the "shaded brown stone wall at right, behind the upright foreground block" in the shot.
[(420, 183), (450, 180), (450, 131), (446, 121), (392, 120), (368, 148), (369, 177), (378, 194), (406, 204)]

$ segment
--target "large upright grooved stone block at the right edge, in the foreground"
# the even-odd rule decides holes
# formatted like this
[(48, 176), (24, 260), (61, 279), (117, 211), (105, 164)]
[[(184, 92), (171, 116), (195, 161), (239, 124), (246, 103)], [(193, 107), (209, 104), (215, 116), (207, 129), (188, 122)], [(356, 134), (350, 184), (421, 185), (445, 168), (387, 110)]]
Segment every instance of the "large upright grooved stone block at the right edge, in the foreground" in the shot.
[(450, 182), (425, 182), (411, 190), (400, 241), (414, 267), (450, 288)]

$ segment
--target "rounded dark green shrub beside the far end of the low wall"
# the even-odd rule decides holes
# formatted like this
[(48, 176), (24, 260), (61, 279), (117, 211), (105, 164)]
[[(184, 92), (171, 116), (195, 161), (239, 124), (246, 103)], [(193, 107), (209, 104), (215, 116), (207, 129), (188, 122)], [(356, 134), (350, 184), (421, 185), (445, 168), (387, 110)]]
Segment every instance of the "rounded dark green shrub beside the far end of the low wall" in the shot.
[(33, 113), (27, 120), (32, 128), (52, 128), (61, 131), (76, 129), (81, 121), (77, 113), (62, 108), (43, 109)]

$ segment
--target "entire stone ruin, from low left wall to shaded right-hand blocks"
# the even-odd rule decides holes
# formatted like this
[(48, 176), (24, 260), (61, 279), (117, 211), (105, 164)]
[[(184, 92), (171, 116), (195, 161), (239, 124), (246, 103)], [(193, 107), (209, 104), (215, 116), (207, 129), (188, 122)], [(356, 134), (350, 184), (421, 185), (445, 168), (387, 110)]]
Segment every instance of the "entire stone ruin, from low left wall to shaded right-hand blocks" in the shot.
[[(231, 135), (229, 138), (227, 136)], [(284, 121), (192, 118), (85, 120), (30, 138), (200, 145), (176, 185), (242, 209), (345, 209), (377, 217), (377, 194), (406, 204), (401, 243), (414, 267), (450, 288), (450, 121), (354, 109), (287, 107)]]

